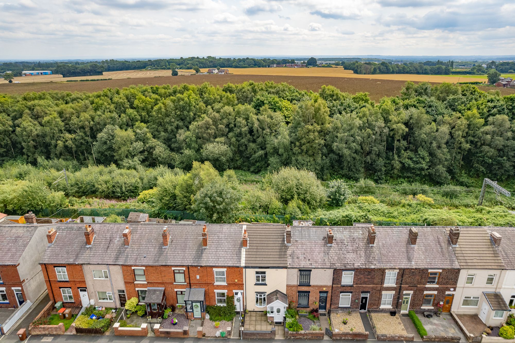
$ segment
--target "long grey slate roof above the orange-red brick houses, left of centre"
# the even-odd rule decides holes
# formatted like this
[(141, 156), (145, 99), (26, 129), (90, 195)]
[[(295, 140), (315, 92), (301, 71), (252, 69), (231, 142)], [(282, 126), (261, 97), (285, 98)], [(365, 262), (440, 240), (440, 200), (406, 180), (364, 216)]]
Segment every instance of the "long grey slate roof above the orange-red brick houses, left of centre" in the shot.
[[(92, 224), (95, 237), (86, 247), (83, 224), (47, 225), (57, 230), (54, 244), (46, 249), (41, 263), (113, 265), (240, 266), (242, 226), (208, 224), (208, 247), (202, 247), (203, 225), (128, 224), (130, 245), (122, 232), (127, 224)], [(164, 227), (170, 232), (163, 248)], [(18, 228), (18, 227), (17, 227)], [(73, 249), (72, 249), (73, 247)]]

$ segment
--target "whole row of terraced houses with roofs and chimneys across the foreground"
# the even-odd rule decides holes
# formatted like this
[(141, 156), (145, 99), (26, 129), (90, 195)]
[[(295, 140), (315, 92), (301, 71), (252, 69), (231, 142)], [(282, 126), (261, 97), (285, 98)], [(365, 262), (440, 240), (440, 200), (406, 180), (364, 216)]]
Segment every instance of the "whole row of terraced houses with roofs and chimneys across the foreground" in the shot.
[(205, 306), (288, 306), (477, 314), (500, 325), (515, 305), (515, 233), (503, 227), (280, 224), (30, 224), (0, 226), (0, 307), (48, 290), (66, 307), (123, 307), (137, 297), (159, 317)]

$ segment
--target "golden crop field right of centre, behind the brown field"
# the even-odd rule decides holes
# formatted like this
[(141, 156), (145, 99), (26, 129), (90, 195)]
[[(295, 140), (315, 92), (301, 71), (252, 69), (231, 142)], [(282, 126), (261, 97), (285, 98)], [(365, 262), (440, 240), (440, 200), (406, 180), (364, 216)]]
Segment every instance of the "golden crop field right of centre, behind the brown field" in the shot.
[[(234, 75), (281, 75), (281, 76), (325, 76), (325, 77), (355, 77), (362, 79), (399, 80), (399, 81), (428, 81), (428, 82), (463, 82), (470, 81), (466, 78), (447, 75), (417, 75), (417, 74), (376, 74), (361, 75), (354, 74), (351, 70), (344, 68), (228, 68), (230, 74)], [(200, 70), (207, 72), (207, 68)], [(487, 81), (485, 77), (474, 78), (473, 81)]]

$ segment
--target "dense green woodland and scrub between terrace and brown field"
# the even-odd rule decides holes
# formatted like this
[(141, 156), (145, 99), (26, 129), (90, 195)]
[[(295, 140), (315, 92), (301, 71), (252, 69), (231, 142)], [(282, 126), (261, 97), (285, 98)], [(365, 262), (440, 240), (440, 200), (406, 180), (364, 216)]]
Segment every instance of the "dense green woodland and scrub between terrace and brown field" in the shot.
[[(513, 119), (515, 95), (448, 83), (407, 82), (379, 104), (272, 82), (0, 95), (0, 212), (507, 225), (511, 200), (490, 194), (476, 208), (477, 191), (465, 188), (482, 177), (512, 184)], [(68, 184), (54, 183), (63, 168)]]

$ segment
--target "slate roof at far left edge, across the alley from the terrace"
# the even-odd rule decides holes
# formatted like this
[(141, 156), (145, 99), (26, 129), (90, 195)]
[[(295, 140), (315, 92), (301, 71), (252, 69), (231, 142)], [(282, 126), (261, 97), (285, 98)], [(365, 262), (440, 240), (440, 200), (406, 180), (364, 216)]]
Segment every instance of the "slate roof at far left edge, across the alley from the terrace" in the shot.
[(0, 265), (16, 265), (36, 233), (46, 230), (36, 225), (16, 225), (0, 227)]

